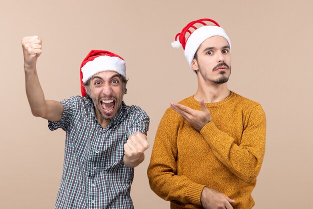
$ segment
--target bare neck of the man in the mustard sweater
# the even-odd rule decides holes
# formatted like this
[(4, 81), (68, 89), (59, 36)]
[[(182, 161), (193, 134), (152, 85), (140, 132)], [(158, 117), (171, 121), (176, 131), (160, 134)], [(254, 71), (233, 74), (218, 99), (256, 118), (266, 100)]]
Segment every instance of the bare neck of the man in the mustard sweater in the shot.
[(230, 91), (226, 83), (215, 84), (198, 79), (198, 89), (194, 94), (194, 99), (197, 101), (204, 100), (205, 103), (214, 103), (225, 99), (229, 94)]

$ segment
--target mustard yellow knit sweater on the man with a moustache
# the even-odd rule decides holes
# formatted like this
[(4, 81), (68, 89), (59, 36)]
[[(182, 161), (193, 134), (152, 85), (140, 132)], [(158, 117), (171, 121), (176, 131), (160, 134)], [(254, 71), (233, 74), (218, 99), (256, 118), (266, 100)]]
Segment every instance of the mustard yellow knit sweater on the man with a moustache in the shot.
[[(193, 96), (179, 104), (201, 110)], [(204, 186), (234, 199), (235, 209), (251, 208), (265, 151), (265, 114), (258, 103), (234, 92), (205, 105), (212, 121), (200, 132), (166, 110), (147, 170), (150, 187), (170, 208), (202, 208)]]

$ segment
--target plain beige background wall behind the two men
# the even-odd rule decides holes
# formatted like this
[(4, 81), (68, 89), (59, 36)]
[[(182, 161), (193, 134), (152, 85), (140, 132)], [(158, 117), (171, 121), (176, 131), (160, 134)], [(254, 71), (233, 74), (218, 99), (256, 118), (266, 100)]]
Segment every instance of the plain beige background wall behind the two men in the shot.
[[(261, 103), (266, 154), (254, 208), (313, 208), (312, 1), (1, 1), (0, 208), (53, 208), (63, 164), (64, 132), (30, 113), (20, 40), (38, 35), (45, 96), (78, 95), (78, 70), (91, 49), (126, 60), (124, 101), (150, 116), (150, 145), (170, 101), (196, 90), (182, 49), (170, 47), (188, 22), (216, 20), (232, 42), (230, 90)], [(169, 208), (149, 188), (145, 161), (135, 169), (135, 208)]]

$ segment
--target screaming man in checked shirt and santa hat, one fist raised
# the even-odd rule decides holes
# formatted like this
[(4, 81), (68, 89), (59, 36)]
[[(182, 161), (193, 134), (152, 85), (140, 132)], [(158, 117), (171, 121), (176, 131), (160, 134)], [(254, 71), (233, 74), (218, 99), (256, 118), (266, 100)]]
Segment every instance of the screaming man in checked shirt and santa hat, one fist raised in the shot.
[(149, 118), (126, 106), (125, 62), (108, 51), (91, 50), (80, 66), (81, 94), (45, 100), (36, 72), (41, 39), (22, 39), (27, 99), (34, 116), (50, 130), (66, 132), (63, 174), (55, 208), (133, 208), (134, 167), (149, 147)]

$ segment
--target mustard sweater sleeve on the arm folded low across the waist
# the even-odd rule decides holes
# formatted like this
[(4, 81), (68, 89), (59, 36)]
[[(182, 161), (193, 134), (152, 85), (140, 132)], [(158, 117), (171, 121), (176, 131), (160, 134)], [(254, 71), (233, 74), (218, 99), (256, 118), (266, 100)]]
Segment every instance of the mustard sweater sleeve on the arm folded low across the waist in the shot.
[(190, 208), (201, 205), (204, 185), (195, 183), (186, 176), (177, 175), (177, 132), (182, 118), (167, 109), (158, 126), (147, 174), (151, 189), (161, 198), (179, 206)]

